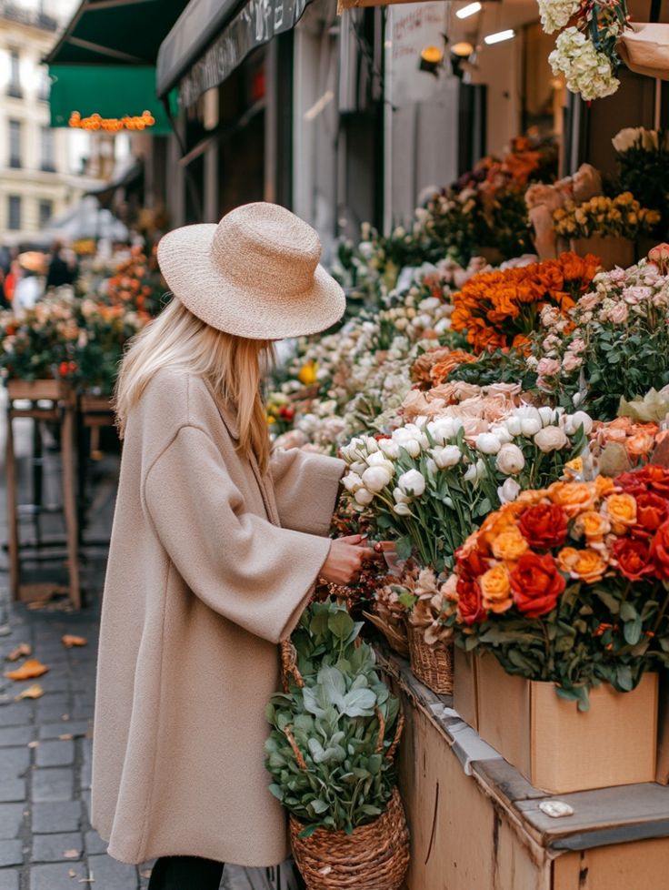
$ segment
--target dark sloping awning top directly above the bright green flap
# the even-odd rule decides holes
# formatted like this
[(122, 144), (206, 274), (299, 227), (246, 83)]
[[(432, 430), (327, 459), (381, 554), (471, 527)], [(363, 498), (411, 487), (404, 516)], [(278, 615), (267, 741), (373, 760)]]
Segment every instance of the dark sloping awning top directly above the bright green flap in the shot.
[(49, 65), (155, 65), (186, 0), (82, 0)]

